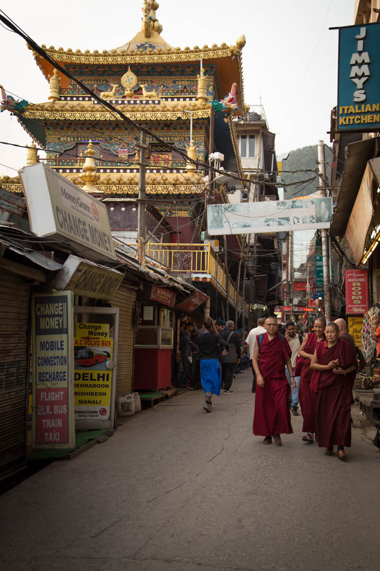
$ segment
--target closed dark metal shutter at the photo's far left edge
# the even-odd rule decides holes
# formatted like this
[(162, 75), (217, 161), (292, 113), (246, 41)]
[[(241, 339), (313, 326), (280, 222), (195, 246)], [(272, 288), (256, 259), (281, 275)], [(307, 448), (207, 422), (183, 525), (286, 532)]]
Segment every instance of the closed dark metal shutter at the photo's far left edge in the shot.
[(0, 280), (0, 480), (25, 467), (30, 287)]

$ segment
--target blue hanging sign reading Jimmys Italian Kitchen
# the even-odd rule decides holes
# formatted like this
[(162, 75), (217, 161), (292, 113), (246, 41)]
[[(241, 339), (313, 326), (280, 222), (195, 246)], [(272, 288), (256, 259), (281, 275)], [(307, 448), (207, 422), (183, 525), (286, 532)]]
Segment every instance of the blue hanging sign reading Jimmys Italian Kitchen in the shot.
[(380, 24), (339, 29), (338, 130), (380, 127)]

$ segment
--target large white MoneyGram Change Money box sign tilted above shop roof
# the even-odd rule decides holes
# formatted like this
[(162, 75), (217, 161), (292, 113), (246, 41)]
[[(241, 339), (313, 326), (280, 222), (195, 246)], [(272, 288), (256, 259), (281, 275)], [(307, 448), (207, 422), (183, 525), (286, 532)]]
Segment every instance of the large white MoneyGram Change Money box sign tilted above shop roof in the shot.
[(43, 163), (24, 167), (19, 175), (35, 235), (69, 242), (89, 258), (116, 260), (102, 202)]

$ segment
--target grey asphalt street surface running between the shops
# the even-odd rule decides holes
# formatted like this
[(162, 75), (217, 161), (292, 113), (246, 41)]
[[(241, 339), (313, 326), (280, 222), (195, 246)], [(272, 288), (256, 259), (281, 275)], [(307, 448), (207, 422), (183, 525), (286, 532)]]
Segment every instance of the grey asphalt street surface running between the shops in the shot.
[(233, 395), (185, 392), (0, 497), (7, 571), (372, 571), (380, 453), (354, 411), (343, 463), (252, 435), (252, 374)]

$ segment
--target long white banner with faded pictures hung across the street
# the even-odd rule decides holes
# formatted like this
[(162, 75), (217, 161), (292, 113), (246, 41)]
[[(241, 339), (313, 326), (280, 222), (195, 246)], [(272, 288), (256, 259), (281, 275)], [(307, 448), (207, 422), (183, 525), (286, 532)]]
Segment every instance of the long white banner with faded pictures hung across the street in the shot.
[(332, 198), (211, 204), (207, 208), (208, 234), (261, 234), (329, 228), (332, 214)]

